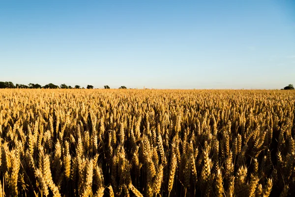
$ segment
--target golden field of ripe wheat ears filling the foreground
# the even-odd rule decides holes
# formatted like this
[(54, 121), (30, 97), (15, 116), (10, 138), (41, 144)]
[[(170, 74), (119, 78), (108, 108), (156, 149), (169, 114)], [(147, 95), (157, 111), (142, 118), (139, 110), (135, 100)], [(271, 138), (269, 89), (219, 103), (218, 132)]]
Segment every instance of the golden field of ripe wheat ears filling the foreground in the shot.
[(295, 196), (295, 91), (0, 90), (0, 197)]

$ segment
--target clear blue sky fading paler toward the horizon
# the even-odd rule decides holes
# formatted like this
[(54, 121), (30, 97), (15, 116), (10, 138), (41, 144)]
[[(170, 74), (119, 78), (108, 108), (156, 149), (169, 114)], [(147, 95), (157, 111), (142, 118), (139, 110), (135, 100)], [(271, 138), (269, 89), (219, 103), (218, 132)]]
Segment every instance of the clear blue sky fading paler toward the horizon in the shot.
[(295, 1), (0, 0), (0, 81), (295, 85)]

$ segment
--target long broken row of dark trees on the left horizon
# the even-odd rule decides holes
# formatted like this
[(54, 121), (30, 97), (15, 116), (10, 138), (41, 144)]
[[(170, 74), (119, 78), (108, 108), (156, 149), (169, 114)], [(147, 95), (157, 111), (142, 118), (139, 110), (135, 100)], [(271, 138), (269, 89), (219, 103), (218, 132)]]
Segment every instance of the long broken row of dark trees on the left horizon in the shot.
[[(67, 86), (65, 84), (61, 84), (60, 86), (55, 85), (53, 83), (46, 84), (45, 86), (41, 86), (39, 84), (33, 84), (29, 83), (28, 85), (24, 84), (13, 84), (11, 81), (9, 82), (2, 82), (0, 81), (0, 89), (3, 88), (25, 88), (25, 89), (37, 89), (37, 88), (49, 88), (49, 89), (85, 89), (84, 87), (81, 88), (79, 85), (75, 85), (74, 87), (72, 86)], [(87, 89), (93, 89), (94, 87), (92, 85), (87, 85)], [(104, 86), (104, 89), (110, 89), (108, 85)], [(127, 89), (125, 86), (119, 87), (119, 89)]]

